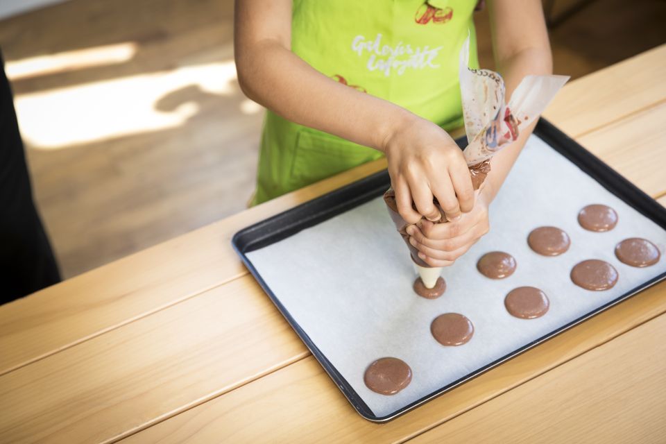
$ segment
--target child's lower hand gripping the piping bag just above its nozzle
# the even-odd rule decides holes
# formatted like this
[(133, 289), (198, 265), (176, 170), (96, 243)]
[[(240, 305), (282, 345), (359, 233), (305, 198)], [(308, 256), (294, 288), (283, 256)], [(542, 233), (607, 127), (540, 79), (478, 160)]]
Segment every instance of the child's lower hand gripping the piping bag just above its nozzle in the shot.
[(407, 228), (409, 242), (430, 266), (449, 266), (488, 232), (488, 199), (481, 191), (471, 212), (453, 222), (421, 221)]

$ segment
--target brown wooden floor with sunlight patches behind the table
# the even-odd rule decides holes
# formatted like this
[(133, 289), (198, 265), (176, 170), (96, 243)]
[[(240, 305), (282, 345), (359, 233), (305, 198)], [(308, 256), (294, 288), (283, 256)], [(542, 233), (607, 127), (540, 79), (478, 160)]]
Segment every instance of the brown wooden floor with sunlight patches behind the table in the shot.
[[(552, 29), (555, 70), (657, 46), (665, 22), (660, 0), (592, 2)], [(71, 0), (1, 21), (0, 47), (65, 277), (245, 207), (262, 110), (236, 82), (231, 0)]]

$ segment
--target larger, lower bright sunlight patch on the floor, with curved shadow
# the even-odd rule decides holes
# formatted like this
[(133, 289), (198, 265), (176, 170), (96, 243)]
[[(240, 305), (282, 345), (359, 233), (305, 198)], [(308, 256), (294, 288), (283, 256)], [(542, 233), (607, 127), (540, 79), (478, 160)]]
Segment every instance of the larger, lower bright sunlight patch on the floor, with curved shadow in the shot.
[(199, 105), (191, 101), (164, 112), (155, 106), (160, 99), (185, 87), (230, 96), (236, 78), (234, 61), (226, 60), (17, 95), (15, 108), (24, 140), (32, 148), (67, 148), (176, 128), (193, 117)]

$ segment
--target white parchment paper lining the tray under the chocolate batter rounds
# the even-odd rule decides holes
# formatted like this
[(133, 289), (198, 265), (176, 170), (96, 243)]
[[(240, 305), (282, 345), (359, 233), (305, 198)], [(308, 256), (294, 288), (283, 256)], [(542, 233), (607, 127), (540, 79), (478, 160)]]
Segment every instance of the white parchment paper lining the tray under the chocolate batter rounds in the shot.
[[(591, 203), (617, 211), (614, 230), (596, 233), (580, 227), (578, 212)], [(543, 225), (569, 234), (567, 253), (533, 253), (527, 234)], [(436, 300), (413, 293), (416, 272), (381, 196), (247, 256), (377, 416), (393, 413), (666, 270), (663, 256), (647, 268), (617, 260), (615, 245), (627, 237), (649, 239), (664, 255), (666, 232), (536, 136), (491, 205), (490, 226), (481, 241), (444, 269), (447, 290)], [(510, 253), (518, 262), (509, 278), (490, 280), (477, 271), (479, 257), (493, 250)], [(583, 259), (613, 264), (620, 274), (615, 287), (595, 292), (572, 284), (571, 268)], [(545, 291), (550, 300), (545, 316), (525, 320), (506, 311), (506, 293), (524, 285)], [(475, 334), (465, 345), (445, 347), (430, 334), (432, 320), (450, 311), (474, 323)], [(374, 393), (363, 382), (366, 367), (388, 356), (413, 370), (411, 384), (393, 396)]]

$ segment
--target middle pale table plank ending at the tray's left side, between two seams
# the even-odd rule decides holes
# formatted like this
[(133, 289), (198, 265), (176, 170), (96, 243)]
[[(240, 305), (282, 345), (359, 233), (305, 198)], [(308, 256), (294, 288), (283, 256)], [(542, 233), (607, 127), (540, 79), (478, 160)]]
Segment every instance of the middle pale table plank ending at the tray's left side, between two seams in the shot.
[(246, 275), (1, 376), (0, 441), (108, 441), (308, 354)]

